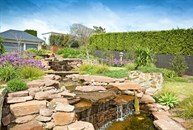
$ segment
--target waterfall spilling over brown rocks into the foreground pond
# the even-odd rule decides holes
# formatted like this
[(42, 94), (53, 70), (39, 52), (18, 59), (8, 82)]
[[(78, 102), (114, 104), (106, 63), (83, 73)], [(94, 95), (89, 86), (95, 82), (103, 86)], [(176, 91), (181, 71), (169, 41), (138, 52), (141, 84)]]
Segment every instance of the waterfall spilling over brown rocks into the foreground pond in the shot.
[(92, 123), (96, 130), (156, 130), (148, 112), (134, 115), (134, 96), (113, 88), (104, 92), (75, 91), (78, 84), (82, 83), (69, 80), (62, 83), (80, 98), (73, 104), (77, 120)]

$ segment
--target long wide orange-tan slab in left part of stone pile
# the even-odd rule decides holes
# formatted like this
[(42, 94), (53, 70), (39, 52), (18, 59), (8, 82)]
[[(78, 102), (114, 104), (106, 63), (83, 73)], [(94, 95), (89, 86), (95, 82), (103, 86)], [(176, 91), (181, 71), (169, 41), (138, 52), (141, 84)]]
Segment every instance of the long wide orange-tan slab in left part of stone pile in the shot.
[(27, 101), (24, 103), (11, 104), (11, 113), (18, 117), (24, 115), (30, 115), (34, 113), (39, 113), (40, 108), (46, 107), (46, 101)]

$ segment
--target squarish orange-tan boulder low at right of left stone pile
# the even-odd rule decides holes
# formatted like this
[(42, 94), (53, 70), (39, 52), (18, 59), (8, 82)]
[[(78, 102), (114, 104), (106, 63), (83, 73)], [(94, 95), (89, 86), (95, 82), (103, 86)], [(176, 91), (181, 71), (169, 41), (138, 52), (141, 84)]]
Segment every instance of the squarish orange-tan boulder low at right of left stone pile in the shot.
[(68, 125), (75, 120), (75, 113), (56, 112), (53, 114), (55, 125)]

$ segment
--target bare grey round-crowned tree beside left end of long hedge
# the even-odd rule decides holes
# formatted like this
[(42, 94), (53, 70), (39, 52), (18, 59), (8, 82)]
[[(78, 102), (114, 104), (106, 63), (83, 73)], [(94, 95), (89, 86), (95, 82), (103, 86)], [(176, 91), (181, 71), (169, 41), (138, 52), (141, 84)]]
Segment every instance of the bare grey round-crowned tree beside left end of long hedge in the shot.
[(85, 45), (89, 39), (89, 36), (94, 32), (93, 29), (88, 28), (82, 24), (73, 24), (70, 27), (71, 35), (75, 36), (75, 39), (80, 45)]

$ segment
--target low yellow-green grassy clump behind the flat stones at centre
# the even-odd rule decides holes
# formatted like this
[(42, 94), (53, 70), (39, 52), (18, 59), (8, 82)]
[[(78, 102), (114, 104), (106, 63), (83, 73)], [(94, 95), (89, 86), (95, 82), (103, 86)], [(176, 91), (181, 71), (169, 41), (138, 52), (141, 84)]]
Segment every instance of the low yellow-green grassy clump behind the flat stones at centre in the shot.
[(83, 64), (79, 69), (81, 74), (103, 74), (108, 70), (109, 68), (107, 66), (90, 64)]

